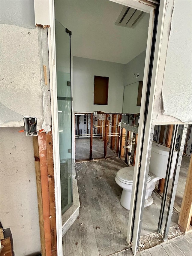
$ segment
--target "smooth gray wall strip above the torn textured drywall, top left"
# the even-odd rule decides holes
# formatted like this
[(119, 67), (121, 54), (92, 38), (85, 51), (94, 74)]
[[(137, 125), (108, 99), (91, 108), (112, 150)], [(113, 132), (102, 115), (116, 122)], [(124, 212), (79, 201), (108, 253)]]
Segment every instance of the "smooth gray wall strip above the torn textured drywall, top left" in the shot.
[(33, 0), (1, 0), (0, 23), (35, 28)]

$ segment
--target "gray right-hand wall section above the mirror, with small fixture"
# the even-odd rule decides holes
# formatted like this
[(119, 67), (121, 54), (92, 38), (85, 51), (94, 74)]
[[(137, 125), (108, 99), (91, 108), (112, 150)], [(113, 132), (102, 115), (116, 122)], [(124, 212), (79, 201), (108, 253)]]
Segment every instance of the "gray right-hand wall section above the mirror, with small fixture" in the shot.
[[(143, 74), (144, 74), (144, 68), (145, 68), (145, 56), (146, 56), (146, 51), (139, 54), (132, 61), (128, 62), (125, 65), (125, 78), (124, 78), (125, 86), (143, 80)], [(135, 76), (136, 74), (139, 74), (139, 76), (138, 77)]]

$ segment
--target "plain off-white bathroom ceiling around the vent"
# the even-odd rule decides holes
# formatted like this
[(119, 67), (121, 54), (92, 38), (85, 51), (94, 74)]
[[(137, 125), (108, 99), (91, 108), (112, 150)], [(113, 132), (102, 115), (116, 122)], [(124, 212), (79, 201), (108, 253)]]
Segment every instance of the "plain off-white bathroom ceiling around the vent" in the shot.
[(134, 29), (116, 26), (122, 9), (105, 0), (56, 0), (55, 18), (72, 31), (72, 56), (127, 64), (146, 50), (149, 14)]

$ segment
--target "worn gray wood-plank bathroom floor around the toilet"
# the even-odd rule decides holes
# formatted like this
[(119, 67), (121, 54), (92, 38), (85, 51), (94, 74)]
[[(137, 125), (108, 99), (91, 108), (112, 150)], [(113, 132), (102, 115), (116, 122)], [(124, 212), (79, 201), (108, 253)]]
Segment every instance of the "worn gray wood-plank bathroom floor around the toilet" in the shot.
[[(115, 182), (117, 171), (125, 166), (120, 159), (76, 163), (80, 214), (63, 237), (64, 255), (132, 255), (126, 242), (129, 211), (120, 204), (122, 188)], [(141, 235), (157, 230), (161, 198), (155, 192), (152, 196), (154, 203), (144, 209)], [(173, 212), (171, 225), (177, 222)]]

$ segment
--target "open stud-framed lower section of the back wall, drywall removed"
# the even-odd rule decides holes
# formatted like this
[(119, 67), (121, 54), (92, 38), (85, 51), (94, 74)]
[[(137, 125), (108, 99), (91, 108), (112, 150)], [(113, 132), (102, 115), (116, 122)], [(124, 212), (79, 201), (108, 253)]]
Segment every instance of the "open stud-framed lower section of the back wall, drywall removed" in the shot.
[(119, 157), (122, 114), (75, 113), (75, 161)]

